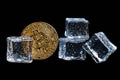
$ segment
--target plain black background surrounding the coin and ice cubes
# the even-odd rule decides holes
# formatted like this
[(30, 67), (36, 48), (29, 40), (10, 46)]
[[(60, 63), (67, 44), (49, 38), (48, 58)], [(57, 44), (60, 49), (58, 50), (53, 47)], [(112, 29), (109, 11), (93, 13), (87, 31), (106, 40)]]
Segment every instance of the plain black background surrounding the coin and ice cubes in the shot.
[[(47, 4), (46, 4), (47, 3)], [(111, 70), (115, 73), (119, 71), (119, 12), (117, 2), (17, 2), (3, 3), (1, 6), (1, 26), (0, 26), (0, 66), (6, 71), (16, 71), (25, 73), (57, 74), (57, 73), (79, 73), (89, 75), (91, 72), (99, 76), (102, 72), (105, 76)], [(53, 56), (46, 60), (33, 61), (31, 64), (17, 64), (6, 61), (6, 38), (8, 36), (20, 36), (22, 30), (30, 23), (44, 21), (51, 24), (58, 32), (59, 37), (64, 37), (65, 18), (82, 17), (89, 20), (90, 36), (102, 31), (114, 43), (118, 49), (106, 62), (96, 64), (87, 55), (85, 61), (64, 61), (58, 59), (58, 48)], [(20, 70), (22, 69), (22, 70)], [(43, 70), (43, 71), (42, 71)], [(31, 72), (32, 71), (32, 72)], [(57, 73), (56, 73), (57, 72)], [(108, 72), (108, 73), (107, 73)], [(79, 75), (78, 74), (78, 75)], [(32, 74), (31, 74), (32, 75)], [(62, 74), (61, 74), (62, 75)], [(60, 77), (61, 75), (58, 75)], [(63, 75), (65, 76), (65, 75)], [(79, 77), (79, 76), (78, 76)]]

